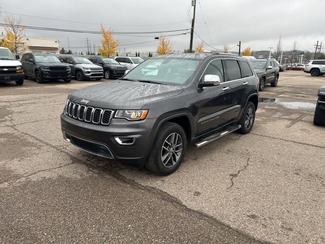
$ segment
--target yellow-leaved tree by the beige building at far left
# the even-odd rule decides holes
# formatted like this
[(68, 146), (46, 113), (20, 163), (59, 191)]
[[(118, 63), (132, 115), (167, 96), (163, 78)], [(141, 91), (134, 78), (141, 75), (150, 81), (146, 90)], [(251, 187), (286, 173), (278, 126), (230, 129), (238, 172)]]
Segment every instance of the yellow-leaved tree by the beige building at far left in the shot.
[(23, 52), (26, 49), (23, 42), (25, 28), (21, 26), (21, 18), (15, 19), (13, 16), (8, 15), (5, 17), (5, 24), (7, 35), (2, 41), (2, 46), (9, 48), (15, 55)]

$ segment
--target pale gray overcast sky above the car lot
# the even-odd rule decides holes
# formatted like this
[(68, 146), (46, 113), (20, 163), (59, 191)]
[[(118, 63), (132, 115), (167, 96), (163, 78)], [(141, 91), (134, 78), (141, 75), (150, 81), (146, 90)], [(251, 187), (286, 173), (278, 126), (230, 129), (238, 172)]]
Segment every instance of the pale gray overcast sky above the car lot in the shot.
[[(110, 26), (115, 32), (163, 32), (190, 28), (193, 8), (191, 0), (2, 0), (0, 22), (4, 23), (6, 13), (38, 16), (42, 18), (62, 19), (73, 22), (48, 20), (21, 16), (24, 25), (81, 29), (100, 31), (100, 24)], [(298, 49), (313, 50), (313, 45), (325, 43), (325, 1), (324, 0), (197, 0), (196, 22), (194, 31), (212, 47), (222, 49), (224, 44), (235, 46), (241, 41), (242, 49), (250, 46), (252, 50), (267, 50), (276, 47), (282, 36), (282, 49), (293, 48), (294, 40)], [(17, 15), (18, 14), (18, 15)], [(80, 23), (83, 22), (83, 23)], [(88, 24), (86, 24), (88, 23)], [(93, 23), (93, 24), (90, 24)], [(124, 26), (123, 26), (124, 25)], [(0, 31), (4, 32), (3, 27)], [(179, 32), (179, 33), (186, 33)], [(86, 50), (86, 38), (91, 47), (99, 46), (101, 36), (98, 34), (77, 34), (26, 29), (26, 36), (55, 38), (60, 46), (73, 50)], [(138, 45), (118, 47), (120, 52), (155, 51), (157, 41), (154, 36), (174, 33), (146, 34), (149, 37), (115, 36), (121, 45), (138, 42), (150, 42)], [(190, 35), (170, 38), (174, 50), (189, 48)], [(194, 36), (193, 46), (200, 39)], [(205, 50), (211, 50), (204, 45)]]

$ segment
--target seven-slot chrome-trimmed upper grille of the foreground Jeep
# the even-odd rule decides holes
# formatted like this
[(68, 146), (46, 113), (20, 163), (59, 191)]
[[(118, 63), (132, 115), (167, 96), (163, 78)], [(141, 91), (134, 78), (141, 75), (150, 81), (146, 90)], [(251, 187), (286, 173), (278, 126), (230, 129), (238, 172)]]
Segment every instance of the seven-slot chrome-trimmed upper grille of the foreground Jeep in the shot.
[(108, 126), (113, 117), (114, 111), (110, 109), (80, 105), (68, 100), (66, 114), (74, 119), (85, 121), (87, 123)]

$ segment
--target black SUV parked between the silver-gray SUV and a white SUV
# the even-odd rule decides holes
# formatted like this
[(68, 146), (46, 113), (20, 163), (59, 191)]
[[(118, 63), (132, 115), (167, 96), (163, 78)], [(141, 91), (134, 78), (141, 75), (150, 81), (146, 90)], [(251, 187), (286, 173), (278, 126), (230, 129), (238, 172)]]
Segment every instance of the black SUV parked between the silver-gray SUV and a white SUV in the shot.
[(127, 67), (120, 65), (116, 60), (110, 57), (89, 57), (95, 65), (100, 65), (104, 69), (105, 79), (120, 78), (124, 75)]

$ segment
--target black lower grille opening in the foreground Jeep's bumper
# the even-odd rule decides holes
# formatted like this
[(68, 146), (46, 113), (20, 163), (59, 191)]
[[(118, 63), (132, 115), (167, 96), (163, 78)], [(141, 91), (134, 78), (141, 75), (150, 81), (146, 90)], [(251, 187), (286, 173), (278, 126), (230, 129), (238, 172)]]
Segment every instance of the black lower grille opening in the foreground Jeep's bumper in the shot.
[(87, 140), (83, 140), (83, 139), (80, 139), (80, 138), (77, 138), (75, 136), (71, 136), (68, 134), (66, 134), (66, 135), (70, 139), (70, 142), (72, 144), (74, 144), (75, 146), (77, 146), (85, 151), (88, 151), (88, 153), (95, 154), (95, 155), (102, 156), (102, 157), (109, 158), (109, 159), (113, 159), (113, 155), (112, 155), (111, 151), (105, 145), (87, 141)]

